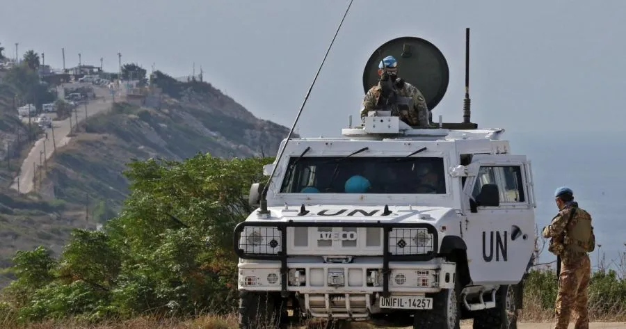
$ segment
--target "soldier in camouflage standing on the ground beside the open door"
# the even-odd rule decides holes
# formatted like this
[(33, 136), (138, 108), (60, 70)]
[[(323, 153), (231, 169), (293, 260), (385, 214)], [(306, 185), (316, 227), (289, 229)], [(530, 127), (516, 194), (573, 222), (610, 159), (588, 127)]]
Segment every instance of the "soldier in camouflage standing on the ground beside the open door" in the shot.
[(588, 252), (595, 249), (591, 215), (578, 207), (570, 188), (557, 188), (554, 193), (559, 214), (543, 227), (543, 237), (552, 238), (548, 251), (561, 261), (559, 294), (556, 296), (555, 329), (567, 329), (572, 307), (578, 314), (575, 329), (588, 329), (587, 288), (591, 277)]

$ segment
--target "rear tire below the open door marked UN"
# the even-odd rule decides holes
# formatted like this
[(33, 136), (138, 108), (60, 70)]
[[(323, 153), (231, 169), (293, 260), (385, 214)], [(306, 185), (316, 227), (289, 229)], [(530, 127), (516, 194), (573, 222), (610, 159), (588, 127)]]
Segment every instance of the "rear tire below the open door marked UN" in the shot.
[(517, 329), (517, 289), (501, 286), (496, 293), (496, 307), (474, 312), (474, 329)]

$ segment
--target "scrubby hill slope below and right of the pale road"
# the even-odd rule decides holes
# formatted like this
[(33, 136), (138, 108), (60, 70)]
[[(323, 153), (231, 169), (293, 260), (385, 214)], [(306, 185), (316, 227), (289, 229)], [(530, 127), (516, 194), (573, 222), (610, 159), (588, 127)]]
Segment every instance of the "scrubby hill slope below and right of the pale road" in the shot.
[[(289, 132), (255, 118), (209, 83), (182, 83), (160, 72), (152, 82), (163, 92), (148, 100), (160, 102), (115, 103), (111, 111), (88, 118), (47, 161), (42, 184), (37, 182), (29, 197), (7, 191), (10, 179), (3, 182), (0, 268), (16, 250), (39, 244), (58, 253), (54, 246), (63, 245), (71, 227), (93, 229), (115, 216), (128, 193), (122, 172), (133, 159), (182, 160), (198, 152), (225, 158), (273, 155)], [(0, 287), (1, 277), (0, 272)]]

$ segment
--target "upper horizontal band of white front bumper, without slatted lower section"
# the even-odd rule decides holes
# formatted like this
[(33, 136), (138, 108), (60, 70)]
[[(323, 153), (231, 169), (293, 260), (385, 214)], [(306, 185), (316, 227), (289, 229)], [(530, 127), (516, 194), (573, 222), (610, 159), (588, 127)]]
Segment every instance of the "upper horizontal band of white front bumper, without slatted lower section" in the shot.
[[(287, 262), (286, 289), (282, 289), (280, 262), (240, 262), (238, 287), (242, 291), (300, 294), (426, 294), (454, 287), (454, 263), (440, 259), (390, 262), (388, 275), (383, 275), (380, 257), (379, 262), (372, 262), (373, 259), (361, 257), (353, 263), (324, 263), (319, 257), (320, 262)], [(383, 280), (385, 276), (387, 280)]]

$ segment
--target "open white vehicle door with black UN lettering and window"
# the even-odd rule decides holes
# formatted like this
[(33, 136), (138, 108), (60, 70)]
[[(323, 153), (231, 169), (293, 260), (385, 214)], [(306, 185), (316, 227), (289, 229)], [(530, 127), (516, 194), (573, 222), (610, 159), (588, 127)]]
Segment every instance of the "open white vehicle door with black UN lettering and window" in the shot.
[(474, 284), (522, 280), (535, 248), (535, 202), (525, 156), (475, 155), (467, 166), (464, 240)]

